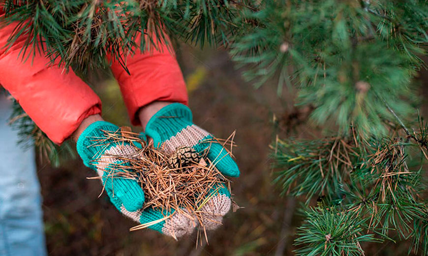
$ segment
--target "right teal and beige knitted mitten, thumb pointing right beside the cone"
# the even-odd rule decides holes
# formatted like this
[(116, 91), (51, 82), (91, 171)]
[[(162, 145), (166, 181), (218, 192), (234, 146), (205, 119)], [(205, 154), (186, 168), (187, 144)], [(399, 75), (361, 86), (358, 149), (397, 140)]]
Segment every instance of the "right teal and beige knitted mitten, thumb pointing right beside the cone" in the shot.
[[(200, 155), (206, 154), (223, 175), (238, 177), (240, 174), (228, 151), (214, 140), (212, 134), (193, 124), (192, 112), (183, 104), (172, 103), (160, 109), (149, 120), (146, 134), (152, 137), (155, 147), (162, 147), (168, 153), (180, 147), (192, 147)], [(218, 227), (231, 206), (227, 188), (220, 186), (212, 192), (215, 192), (214, 196), (201, 207), (207, 229)]]

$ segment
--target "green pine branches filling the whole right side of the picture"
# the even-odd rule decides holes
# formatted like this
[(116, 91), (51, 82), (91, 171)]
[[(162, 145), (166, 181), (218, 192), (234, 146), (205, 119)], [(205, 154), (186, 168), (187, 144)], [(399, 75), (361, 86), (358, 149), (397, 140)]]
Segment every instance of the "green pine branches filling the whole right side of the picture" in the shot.
[(427, 126), (407, 126), (428, 2), (262, 0), (242, 21), (253, 26), (230, 51), (244, 77), (255, 87), (277, 80), (279, 95), (295, 86), (297, 105), (332, 135), (272, 145), (282, 193), (306, 205), (318, 198), (296, 253), (364, 255), (360, 242), (413, 239), (413, 251), (427, 255)]

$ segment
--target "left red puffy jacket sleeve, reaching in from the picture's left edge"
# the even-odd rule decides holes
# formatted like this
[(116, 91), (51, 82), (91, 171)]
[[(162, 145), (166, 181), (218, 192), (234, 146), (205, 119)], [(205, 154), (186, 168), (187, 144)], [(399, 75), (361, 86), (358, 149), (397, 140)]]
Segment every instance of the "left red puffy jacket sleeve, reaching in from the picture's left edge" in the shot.
[[(3, 15), (0, 10), (0, 19)], [(25, 38), (5, 51), (14, 27), (11, 24), (0, 29), (0, 84), (52, 141), (61, 143), (83, 119), (101, 113), (101, 101), (74, 72), (48, 65), (38, 53), (22, 62), (18, 55)]]

